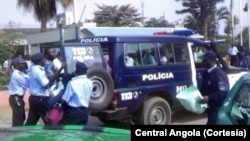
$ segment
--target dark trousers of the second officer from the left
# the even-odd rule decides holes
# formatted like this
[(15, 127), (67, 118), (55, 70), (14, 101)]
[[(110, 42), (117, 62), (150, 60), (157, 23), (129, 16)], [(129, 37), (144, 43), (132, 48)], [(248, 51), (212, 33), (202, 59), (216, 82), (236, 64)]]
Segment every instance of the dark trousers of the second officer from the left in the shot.
[(42, 118), (45, 125), (48, 124), (46, 112), (51, 109), (48, 105), (49, 97), (33, 96), (29, 97), (29, 113), (25, 125), (36, 125)]

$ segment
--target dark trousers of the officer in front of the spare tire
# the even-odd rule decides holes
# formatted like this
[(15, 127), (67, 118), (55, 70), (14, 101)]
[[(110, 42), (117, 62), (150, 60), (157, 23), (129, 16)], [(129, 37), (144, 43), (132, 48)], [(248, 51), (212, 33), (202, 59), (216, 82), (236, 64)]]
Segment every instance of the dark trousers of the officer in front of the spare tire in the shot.
[(63, 125), (83, 125), (87, 124), (89, 112), (85, 107), (63, 106), (64, 116), (61, 121)]

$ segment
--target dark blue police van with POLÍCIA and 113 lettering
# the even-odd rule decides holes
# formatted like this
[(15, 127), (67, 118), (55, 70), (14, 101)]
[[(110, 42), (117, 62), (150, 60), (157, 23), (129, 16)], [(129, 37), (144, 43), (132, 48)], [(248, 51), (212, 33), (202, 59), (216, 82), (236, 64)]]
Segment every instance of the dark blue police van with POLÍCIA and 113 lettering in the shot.
[(227, 66), (216, 42), (186, 35), (94, 36), (54, 47), (63, 51), (68, 74), (74, 72), (77, 60), (90, 68), (87, 75), (94, 89), (89, 109), (102, 122), (171, 124), (173, 113), (184, 109), (176, 94), (189, 86), (200, 87), (205, 68), (199, 56), (206, 50), (217, 53), (230, 87), (247, 73)]

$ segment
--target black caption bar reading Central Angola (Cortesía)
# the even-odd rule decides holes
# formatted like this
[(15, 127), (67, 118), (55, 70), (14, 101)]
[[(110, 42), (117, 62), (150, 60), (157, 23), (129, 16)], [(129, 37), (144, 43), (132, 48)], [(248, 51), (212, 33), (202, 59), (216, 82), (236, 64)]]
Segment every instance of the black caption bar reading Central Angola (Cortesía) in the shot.
[(157, 141), (166, 139), (214, 139), (234, 138), (250, 139), (250, 126), (226, 125), (132, 125), (131, 141), (138, 141), (148, 137)]

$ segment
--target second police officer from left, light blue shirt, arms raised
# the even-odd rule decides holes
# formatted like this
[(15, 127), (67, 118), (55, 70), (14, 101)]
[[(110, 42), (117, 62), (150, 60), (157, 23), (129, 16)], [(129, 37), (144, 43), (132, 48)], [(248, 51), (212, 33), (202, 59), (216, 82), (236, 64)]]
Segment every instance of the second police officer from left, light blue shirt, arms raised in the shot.
[(44, 70), (45, 59), (42, 53), (31, 56), (33, 64), (30, 68), (29, 113), (25, 125), (36, 125), (39, 118), (42, 118), (44, 124), (48, 124), (45, 115), (51, 108), (47, 103), (50, 80), (46, 77)]

